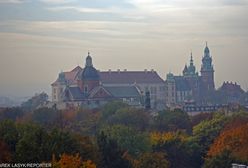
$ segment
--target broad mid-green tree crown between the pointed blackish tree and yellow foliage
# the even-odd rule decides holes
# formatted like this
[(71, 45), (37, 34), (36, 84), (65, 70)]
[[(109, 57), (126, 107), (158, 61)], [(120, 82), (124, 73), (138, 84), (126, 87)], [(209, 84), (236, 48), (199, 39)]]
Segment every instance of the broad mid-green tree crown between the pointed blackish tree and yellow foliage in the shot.
[(132, 156), (151, 150), (149, 135), (139, 132), (132, 127), (113, 125), (104, 127), (102, 131), (108, 137), (115, 140), (121, 149), (127, 150)]

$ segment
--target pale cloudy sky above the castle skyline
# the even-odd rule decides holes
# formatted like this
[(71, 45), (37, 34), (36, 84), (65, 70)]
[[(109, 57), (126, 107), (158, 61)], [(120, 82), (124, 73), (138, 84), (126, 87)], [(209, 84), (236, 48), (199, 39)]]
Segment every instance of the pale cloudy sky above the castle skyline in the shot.
[(248, 90), (248, 0), (0, 0), (0, 96), (45, 91), (61, 71), (84, 66), (90, 51), (101, 70), (180, 75), (206, 41), (216, 88)]

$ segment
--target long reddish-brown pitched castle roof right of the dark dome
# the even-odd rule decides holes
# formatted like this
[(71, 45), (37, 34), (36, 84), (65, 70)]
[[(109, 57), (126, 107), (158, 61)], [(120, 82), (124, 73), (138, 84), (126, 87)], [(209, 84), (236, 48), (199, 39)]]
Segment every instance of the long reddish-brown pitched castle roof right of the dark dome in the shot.
[(163, 79), (154, 71), (102, 71), (103, 84), (163, 83)]

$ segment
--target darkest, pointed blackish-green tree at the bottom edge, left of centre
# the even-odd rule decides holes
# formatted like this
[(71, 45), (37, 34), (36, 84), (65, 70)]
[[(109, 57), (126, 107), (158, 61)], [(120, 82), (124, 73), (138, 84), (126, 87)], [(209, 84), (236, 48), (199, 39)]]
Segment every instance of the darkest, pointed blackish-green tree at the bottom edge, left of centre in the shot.
[(117, 142), (107, 137), (104, 132), (97, 136), (97, 143), (102, 159), (100, 162), (101, 168), (129, 168), (131, 163), (123, 158), (122, 151)]

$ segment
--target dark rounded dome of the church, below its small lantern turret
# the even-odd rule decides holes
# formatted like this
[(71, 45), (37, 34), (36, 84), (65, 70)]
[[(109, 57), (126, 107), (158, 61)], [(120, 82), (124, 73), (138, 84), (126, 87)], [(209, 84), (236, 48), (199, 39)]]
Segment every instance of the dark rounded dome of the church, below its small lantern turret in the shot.
[(98, 71), (93, 66), (86, 66), (81, 73), (82, 80), (99, 80)]

